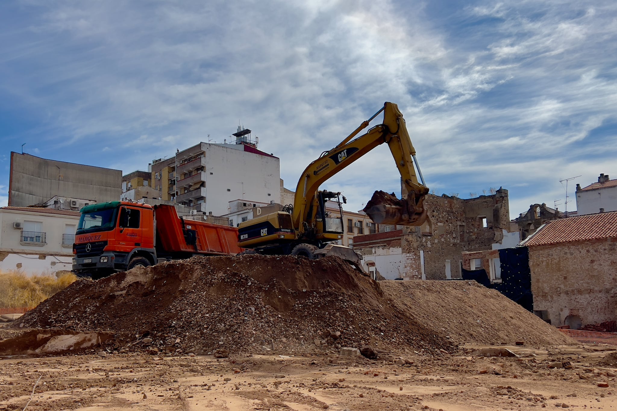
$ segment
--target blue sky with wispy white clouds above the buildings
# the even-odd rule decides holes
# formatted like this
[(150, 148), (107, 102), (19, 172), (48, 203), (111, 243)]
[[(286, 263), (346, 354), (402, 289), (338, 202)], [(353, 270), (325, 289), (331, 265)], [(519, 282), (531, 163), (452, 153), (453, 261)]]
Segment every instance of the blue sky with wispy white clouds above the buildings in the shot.
[[(0, 205), (24, 142), (128, 173), (238, 121), (294, 189), (392, 101), (435, 193), (563, 210), (560, 179), (617, 177), (616, 40), (615, 1), (2, 1)], [(383, 146), (324, 188), (400, 190)]]

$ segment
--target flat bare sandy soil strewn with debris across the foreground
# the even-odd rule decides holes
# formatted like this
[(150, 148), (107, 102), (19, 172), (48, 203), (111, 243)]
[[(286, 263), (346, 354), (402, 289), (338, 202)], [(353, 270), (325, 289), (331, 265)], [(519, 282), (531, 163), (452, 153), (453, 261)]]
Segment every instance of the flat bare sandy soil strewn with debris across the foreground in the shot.
[[(508, 347), (521, 357), (381, 354), (149, 356), (0, 360), (0, 409), (23, 410), (537, 410), (617, 409), (608, 348)], [(471, 346), (462, 351), (475, 349)], [(613, 351), (614, 352), (614, 351)], [(405, 365), (394, 360), (403, 358)], [(549, 368), (553, 360), (572, 368)], [(400, 361), (399, 361), (400, 363)], [(608, 383), (607, 388), (598, 382)]]

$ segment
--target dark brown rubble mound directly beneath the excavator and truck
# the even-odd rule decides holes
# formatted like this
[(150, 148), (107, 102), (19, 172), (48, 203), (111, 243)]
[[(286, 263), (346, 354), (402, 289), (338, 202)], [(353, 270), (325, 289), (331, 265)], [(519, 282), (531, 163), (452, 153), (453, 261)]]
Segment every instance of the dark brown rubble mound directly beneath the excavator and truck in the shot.
[(194, 257), (137, 268), (77, 281), (20, 324), (114, 332), (117, 349), (152, 354), (452, 348), (339, 258)]

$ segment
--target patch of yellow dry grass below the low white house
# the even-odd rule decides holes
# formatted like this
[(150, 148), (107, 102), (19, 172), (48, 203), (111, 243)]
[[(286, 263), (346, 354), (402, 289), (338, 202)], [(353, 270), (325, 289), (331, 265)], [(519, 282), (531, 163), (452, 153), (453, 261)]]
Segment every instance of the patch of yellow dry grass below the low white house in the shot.
[(0, 308), (36, 307), (77, 280), (75, 274), (25, 275), (20, 271), (0, 271)]

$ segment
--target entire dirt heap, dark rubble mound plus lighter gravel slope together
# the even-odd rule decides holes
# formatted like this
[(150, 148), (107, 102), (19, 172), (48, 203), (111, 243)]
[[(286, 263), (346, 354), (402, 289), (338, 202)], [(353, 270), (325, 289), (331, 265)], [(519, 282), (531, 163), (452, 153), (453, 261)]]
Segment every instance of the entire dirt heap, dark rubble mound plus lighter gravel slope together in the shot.
[(78, 280), (21, 324), (110, 332), (115, 349), (152, 353), (328, 352), (366, 344), (434, 352), (463, 342), (571, 342), (476, 283), (376, 283), (341, 259), (295, 256), (196, 257)]

